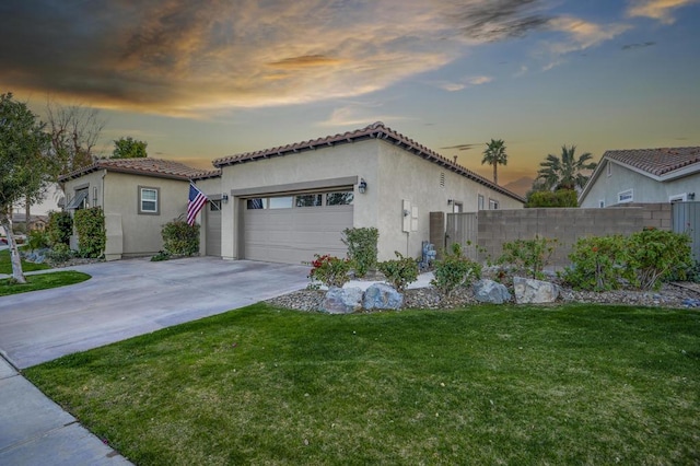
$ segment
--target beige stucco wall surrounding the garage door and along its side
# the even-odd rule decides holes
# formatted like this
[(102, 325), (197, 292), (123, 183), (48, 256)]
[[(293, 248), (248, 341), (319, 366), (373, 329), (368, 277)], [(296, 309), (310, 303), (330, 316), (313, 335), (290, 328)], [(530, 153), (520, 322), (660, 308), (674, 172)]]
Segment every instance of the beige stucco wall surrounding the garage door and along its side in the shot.
[[(444, 187), (440, 185), (444, 175)], [(243, 203), (234, 193), (262, 186), (290, 185), (342, 177), (364, 178), (365, 194), (355, 185), (355, 228), (380, 230), (380, 260), (394, 258), (394, 252), (418, 257), (421, 242), (429, 240), (429, 213), (452, 212), (447, 199), (463, 202), (463, 209), (477, 210), (478, 195), (498, 200), (500, 209), (520, 209), (522, 202), (499, 194), (471, 179), (376, 139), (319, 148), (298, 154), (276, 156), (222, 170), (222, 191), (231, 201), (222, 206), (222, 256), (237, 258), (237, 222)], [(402, 203), (406, 199), (418, 208), (417, 231), (402, 232)]]

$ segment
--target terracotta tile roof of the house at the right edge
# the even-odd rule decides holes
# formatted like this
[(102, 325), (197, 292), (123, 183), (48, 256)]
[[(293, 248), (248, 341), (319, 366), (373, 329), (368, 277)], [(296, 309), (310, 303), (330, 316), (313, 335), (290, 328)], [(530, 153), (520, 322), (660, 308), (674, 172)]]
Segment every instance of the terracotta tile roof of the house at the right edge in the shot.
[(699, 164), (698, 168), (700, 170), (700, 147), (607, 151), (603, 158), (655, 176), (662, 176), (695, 163)]

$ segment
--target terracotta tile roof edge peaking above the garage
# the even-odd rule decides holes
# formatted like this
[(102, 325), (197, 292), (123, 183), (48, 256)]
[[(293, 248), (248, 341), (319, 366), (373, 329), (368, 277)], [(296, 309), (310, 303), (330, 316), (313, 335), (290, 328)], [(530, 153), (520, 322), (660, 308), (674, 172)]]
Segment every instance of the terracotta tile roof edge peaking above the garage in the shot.
[(413, 141), (410, 138), (384, 126), (382, 121), (376, 121), (365, 128), (357, 129), (354, 131), (347, 131), (343, 133), (335, 135), (335, 136), (326, 136), (324, 138), (312, 139), (308, 141), (295, 142), (292, 144), (280, 145), (272, 149), (264, 149), (256, 152), (246, 152), (236, 155), (230, 155), (221, 159), (217, 159), (212, 162), (212, 164), (221, 168), (223, 166), (235, 165), (240, 163), (253, 162), (259, 159), (270, 159), (275, 156), (283, 156), (291, 155), (300, 152), (312, 151), (315, 149), (320, 149), (330, 145), (357, 142), (368, 139), (382, 139), (388, 141), (393, 144), (396, 144), (408, 152), (411, 152), (418, 156), (421, 156), (425, 160), (429, 160), (433, 163), (436, 163), (441, 166), (444, 166), (446, 170), (452, 170), (476, 183), (488, 186), (501, 194), (510, 196), (514, 199), (517, 199), (522, 202), (525, 202), (525, 199), (522, 196), (512, 193), (502, 186), (495, 185), (481, 175), (471, 172), (464, 166), (453, 162), (452, 160), (440, 155), (438, 152), (428, 149), (427, 147)]

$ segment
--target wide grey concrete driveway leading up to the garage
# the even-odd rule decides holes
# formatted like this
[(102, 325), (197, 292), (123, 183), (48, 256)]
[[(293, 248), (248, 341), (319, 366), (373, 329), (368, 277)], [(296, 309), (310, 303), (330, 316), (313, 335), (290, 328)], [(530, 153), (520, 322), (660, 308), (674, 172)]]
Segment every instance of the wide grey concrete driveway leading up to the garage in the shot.
[(148, 258), (72, 267), (92, 279), (0, 298), (0, 351), (24, 369), (303, 289), (308, 268)]

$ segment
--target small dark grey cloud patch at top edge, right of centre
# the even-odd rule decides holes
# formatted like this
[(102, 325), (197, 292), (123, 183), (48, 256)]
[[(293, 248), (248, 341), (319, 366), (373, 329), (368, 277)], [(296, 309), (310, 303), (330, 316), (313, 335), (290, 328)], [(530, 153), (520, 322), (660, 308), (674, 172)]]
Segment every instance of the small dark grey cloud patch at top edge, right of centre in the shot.
[(537, 13), (540, 0), (492, 0), (464, 3), (450, 11), (462, 33), (479, 40), (502, 40), (522, 37), (529, 31), (541, 30), (551, 20)]

